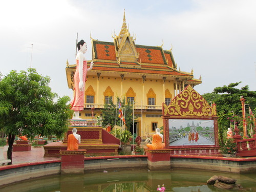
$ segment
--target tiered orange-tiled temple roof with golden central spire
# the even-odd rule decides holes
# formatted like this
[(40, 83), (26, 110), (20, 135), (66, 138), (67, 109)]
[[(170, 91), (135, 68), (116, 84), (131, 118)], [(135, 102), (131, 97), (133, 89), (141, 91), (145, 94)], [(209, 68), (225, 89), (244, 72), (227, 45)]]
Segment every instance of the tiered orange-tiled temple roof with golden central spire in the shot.
[[(191, 73), (177, 70), (172, 49), (163, 50), (162, 46), (136, 45), (134, 37), (131, 36), (126, 27), (125, 13), (121, 31), (119, 35), (115, 35), (113, 38), (114, 42), (91, 38), (92, 60), (94, 62), (92, 72), (95, 75), (97, 73), (101, 73), (101, 75), (119, 73), (131, 77), (144, 75), (147, 78), (154, 76), (154, 78), (164, 77), (169, 80), (182, 78), (185, 79), (185, 84), (192, 86), (202, 83), (201, 77), (194, 79), (193, 70)], [(67, 65), (67, 75), (72, 75), (75, 68), (75, 65)], [(68, 82), (70, 88), (72, 87), (71, 83)]]

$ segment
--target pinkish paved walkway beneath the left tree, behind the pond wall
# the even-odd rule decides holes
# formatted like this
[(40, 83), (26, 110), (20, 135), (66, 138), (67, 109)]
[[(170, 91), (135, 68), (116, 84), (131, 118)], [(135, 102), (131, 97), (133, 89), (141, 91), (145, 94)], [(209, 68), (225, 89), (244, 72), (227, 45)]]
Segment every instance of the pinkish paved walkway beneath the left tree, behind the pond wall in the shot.
[[(8, 145), (4, 148), (4, 157), (7, 159)], [(31, 151), (28, 152), (12, 152), (12, 164), (39, 162), (39, 161), (50, 161), (60, 159), (58, 157), (44, 157), (44, 147), (34, 148), (31, 147)]]

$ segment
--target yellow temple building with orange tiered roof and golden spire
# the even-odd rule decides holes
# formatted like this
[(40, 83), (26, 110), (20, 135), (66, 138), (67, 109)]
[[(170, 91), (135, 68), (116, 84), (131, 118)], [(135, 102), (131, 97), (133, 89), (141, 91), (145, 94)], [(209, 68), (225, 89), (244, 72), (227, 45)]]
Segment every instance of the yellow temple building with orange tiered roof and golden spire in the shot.
[[(194, 87), (202, 83), (201, 76), (194, 79), (193, 70), (190, 73), (177, 70), (172, 49), (136, 45), (127, 29), (125, 13), (121, 31), (112, 42), (91, 39), (94, 66), (87, 74), (84, 110), (80, 118), (92, 119), (92, 108), (94, 115), (100, 116), (104, 103), (110, 100), (116, 103), (117, 97), (125, 98), (135, 103), (134, 132), (145, 138), (163, 126), (163, 102), (169, 104), (188, 84)], [(70, 89), (73, 89), (75, 70), (76, 65), (69, 65), (67, 61)]]

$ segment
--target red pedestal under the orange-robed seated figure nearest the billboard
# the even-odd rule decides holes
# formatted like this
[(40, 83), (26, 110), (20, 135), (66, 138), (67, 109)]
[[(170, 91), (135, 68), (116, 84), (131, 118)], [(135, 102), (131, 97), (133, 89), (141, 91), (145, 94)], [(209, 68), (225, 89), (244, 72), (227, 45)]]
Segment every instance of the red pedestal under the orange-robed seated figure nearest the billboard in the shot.
[(170, 149), (148, 150), (144, 148), (147, 155), (147, 168), (150, 170), (170, 169)]

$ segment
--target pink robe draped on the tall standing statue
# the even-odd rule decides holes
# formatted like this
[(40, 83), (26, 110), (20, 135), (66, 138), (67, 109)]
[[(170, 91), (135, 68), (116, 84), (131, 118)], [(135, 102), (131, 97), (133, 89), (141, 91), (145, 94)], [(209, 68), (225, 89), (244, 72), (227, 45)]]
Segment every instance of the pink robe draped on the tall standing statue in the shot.
[[(84, 103), (84, 91), (79, 90), (79, 63), (76, 60), (76, 72), (74, 75), (74, 98), (71, 101), (71, 110), (73, 111), (82, 111), (83, 110), (83, 103)], [(87, 61), (83, 61), (83, 68), (82, 68), (82, 80), (84, 82), (84, 87), (86, 87), (86, 74), (87, 74)]]

